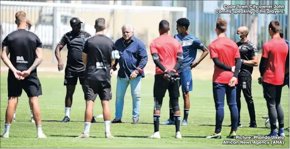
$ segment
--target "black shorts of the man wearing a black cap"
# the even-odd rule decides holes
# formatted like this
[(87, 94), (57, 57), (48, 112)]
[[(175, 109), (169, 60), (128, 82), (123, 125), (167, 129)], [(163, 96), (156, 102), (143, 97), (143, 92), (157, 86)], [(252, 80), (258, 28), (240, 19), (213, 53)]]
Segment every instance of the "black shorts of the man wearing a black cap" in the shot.
[(65, 68), (65, 75), (64, 75), (64, 83), (63, 85), (77, 85), (78, 79), (80, 81), (80, 84), (84, 84), (84, 74), (85, 71), (75, 71), (68, 68), (68, 66)]

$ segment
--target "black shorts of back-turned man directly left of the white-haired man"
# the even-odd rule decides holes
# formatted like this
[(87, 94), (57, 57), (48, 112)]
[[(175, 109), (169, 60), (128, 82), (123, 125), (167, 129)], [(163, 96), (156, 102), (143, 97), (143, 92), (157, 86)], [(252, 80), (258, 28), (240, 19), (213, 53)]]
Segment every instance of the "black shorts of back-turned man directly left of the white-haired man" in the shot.
[(101, 100), (111, 100), (111, 81), (84, 80), (85, 100), (95, 100), (99, 95)]

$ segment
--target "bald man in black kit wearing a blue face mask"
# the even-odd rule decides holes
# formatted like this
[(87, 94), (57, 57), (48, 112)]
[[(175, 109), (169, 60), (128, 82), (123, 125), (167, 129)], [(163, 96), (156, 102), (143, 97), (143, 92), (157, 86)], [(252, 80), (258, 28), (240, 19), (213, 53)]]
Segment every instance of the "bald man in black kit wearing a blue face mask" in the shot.
[(248, 105), (248, 111), (250, 115), (249, 127), (257, 127), (251, 86), (253, 67), (258, 66), (258, 49), (252, 42), (247, 39), (248, 34), (249, 29), (243, 26), (238, 28), (235, 36), (236, 40), (238, 41), (236, 44), (239, 47), (242, 62), (241, 69), (238, 74), (238, 85), (236, 92), (237, 107), (239, 112), (239, 127), (242, 127), (240, 116), (241, 91), (243, 92), (246, 103)]

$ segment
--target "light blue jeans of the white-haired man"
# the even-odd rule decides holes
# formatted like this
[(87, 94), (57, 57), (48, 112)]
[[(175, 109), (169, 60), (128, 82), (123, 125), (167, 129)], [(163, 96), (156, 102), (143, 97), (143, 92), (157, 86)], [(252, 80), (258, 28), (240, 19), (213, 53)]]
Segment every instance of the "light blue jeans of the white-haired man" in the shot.
[(128, 85), (131, 85), (131, 95), (133, 99), (133, 119), (139, 120), (140, 112), (140, 93), (141, 93), (141, 76), (134, 80), (117, 77), (117, 91), (116, 91), (116, 112), (115, 119), (121, 119), (124, 107), (124, 96)]

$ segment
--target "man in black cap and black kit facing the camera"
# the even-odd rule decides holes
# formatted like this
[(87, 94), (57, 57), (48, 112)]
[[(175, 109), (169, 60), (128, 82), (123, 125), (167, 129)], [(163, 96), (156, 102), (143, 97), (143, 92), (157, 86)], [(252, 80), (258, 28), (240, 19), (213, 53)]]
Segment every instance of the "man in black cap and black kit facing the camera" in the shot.
[[(91, 37), (91, 35), (81, 30), (82, 22), (79, 18), (72, 18), (70, 20), (70, 26), (72, 31), (65, 33), (59, 44), (55, 49), (55, 56), (58, 61), (58, 70), (63, 70), (63, 62), (60, 56), (60, 51), (65, 45), (67, 45), (68, 55), (67, 64), (65, 68), (64, 85), (66, 86), (65, 96), (65, 117), (61, 122), (70, 121), (70, 110), (73, 101), (73, 93), (76, 88), (77, 81), (79, 79), (82, 88), (84, 88), (84, 73), (85, 65), (83, 64), (82, 50), (84, 45), (84, 39)], [(94, 117), (92, 122), (96, 122)]]

